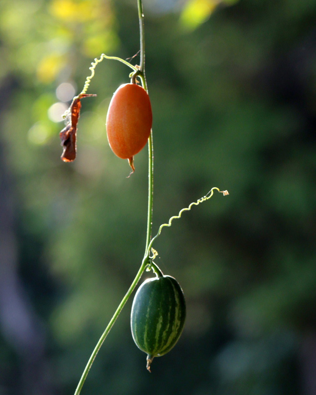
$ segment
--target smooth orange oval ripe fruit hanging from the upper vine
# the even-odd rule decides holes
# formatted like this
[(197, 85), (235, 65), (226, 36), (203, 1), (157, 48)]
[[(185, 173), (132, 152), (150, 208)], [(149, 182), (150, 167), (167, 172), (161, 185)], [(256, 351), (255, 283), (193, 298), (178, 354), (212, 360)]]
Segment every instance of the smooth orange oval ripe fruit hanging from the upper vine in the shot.
[(115, 155), (132, 162), (145, 147), (151, 126), (152, 111), (145, 89), (136, 84), (117, 88), (106, 117), (107, 139)]

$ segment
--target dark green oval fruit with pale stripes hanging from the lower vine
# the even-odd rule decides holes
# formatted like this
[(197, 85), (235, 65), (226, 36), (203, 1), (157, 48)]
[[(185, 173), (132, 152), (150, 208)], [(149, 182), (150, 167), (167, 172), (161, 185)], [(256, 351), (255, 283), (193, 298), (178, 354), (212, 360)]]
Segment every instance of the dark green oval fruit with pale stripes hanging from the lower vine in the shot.
[(173, 348), (181, 335), (186, 308), (181, 286), (171, 276), (149, 278), (137, 290), (131, 313), (132, 335), (147, 353), (147, 369), (154, 357)]

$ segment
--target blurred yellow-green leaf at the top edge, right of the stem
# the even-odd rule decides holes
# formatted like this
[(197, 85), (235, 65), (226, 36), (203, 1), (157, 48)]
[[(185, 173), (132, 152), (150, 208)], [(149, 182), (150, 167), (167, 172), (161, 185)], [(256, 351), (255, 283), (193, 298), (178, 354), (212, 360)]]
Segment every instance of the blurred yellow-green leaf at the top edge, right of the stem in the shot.
[(218, 5), (214, 0), (189, 0), (182, 10), (181, 24), (190, 30), (194, 30), (205, 22)]

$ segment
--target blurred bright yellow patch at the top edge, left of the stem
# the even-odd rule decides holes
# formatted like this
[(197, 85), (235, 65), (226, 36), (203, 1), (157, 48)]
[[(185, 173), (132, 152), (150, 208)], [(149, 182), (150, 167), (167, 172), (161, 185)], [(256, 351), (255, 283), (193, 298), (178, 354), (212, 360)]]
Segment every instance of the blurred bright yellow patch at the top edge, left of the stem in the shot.
[(97, 10), (98, 2), (93, 0), (54, 0), (50, 7), (52, 15), (70, 23), (90, 21), (97, 17)]

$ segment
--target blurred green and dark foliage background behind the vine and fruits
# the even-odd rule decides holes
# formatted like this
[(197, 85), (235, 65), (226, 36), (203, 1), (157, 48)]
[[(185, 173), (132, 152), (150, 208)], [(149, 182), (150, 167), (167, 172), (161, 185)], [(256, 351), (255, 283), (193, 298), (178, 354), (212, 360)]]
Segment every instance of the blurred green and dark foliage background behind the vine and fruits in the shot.
[[(72, 394), (145, 248), (147, 149), (107, 144), (130, 70), (97, 66), (77, 159), (60, 115), (102, 52), (139, 50), (136, 0), (2, 0), (0, 395)], [(187, 302), (152, 374), (124, 308), (85, 394), (316, 394), (316, 1), (144, 0), (156, 262)], [(136, 57), (134, 64), (139, 62)], [(147, 273), (144, 278), (149, 276)]]

